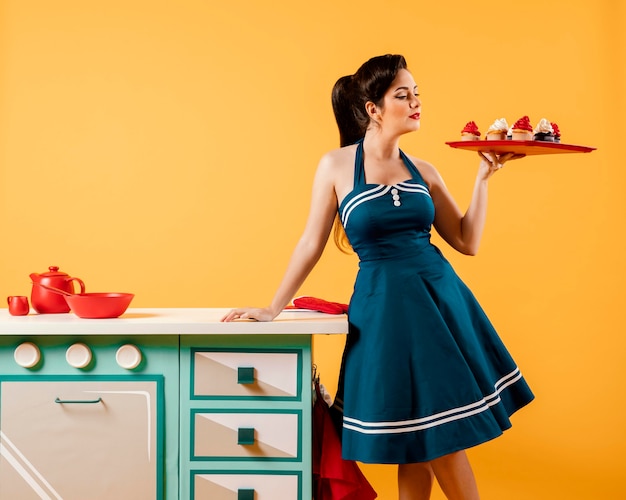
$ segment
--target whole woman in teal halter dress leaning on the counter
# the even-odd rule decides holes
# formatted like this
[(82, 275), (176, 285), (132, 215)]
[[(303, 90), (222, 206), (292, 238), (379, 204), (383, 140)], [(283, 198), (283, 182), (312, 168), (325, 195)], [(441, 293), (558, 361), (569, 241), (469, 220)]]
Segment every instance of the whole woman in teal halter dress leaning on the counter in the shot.
[[(345, 459), (398, 464), (400, 500), (478, 498), (466, 448), (499, 436), (533, 399), (469, 289), (430, 243), (431, 225), (474, 255), (489, 178), (512, 154), (481, 155), (463, 214), (437, 170), (399, 149), (420, 128), (417, 85), (400, 55), (374, 57), (333, 89), (341, 148), (320, 161), (310, 214), (266, 308), (224, 321), (271, 321), (318, 261), (338, 215), (359, 256), (335, 407)], [(336, 241), (341, 239), (341, 235)]]

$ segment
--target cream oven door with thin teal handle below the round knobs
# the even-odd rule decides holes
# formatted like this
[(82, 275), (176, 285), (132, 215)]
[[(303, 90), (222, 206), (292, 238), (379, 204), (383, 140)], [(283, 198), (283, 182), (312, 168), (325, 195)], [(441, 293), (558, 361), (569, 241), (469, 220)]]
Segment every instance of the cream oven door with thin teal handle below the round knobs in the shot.
[(0, 498), (163, 497), (160, 376), (0, 378)]

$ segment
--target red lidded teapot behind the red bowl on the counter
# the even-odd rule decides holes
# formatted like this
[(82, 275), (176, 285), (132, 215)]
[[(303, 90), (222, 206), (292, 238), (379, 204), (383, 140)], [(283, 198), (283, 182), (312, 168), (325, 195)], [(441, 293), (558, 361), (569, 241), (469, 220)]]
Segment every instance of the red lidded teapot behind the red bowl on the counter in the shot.
[(45, 287), (74, 293), (74, 281), (76, 281), (80, 285), (80, 293), (85, 293), (85, 284), (80, 278), (72, 278), (69, 274), (60, 272), (57, 266), (50, 266), (48, 269), (47, 273), (30, 275), (33, 282), (30, 295), (33, 309), (40, 314), (70, 312), (65, 297)]

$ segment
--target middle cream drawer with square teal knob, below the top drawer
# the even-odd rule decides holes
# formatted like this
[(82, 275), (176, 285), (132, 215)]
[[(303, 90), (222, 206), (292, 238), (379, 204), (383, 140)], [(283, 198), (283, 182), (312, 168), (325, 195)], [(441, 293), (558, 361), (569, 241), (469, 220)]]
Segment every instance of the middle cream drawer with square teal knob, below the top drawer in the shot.
[(192, 412), (192, 460), (300, 460), (301, 413)]

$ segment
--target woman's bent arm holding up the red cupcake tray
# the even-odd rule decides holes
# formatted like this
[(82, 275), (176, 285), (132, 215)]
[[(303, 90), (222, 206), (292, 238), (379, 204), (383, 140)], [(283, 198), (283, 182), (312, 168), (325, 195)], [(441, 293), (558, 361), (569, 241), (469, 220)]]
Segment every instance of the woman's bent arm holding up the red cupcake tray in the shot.
[(429, 180), (435, 204), (434, 226), (452, 248), (466, 255), (476, 255), (487, 219), (488, 181), (506, 161), (521, 157), (512, 153), (499, 157), (495, 154), (489, 156), (481, 154), (472, 199), (465, 214), (459, 210), (441, 176), (434, 168), (432, 169)]

